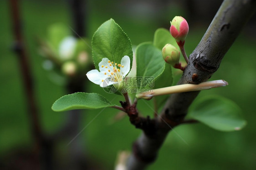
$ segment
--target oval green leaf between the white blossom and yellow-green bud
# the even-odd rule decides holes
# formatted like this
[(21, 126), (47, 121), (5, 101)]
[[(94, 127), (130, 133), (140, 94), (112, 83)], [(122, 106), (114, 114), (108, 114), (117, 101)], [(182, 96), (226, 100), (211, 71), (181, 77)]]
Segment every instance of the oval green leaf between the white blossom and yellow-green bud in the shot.
[[(138, 45), (136, 49), (137, 77), (154, 77), (154, 80), (163, 73), (165, 61), (162, 52), (152, 43), (146, 42)], [(144, 83), (144, 84), (143, 84)], [(141, 82), (145, 87), (147, 82)]]

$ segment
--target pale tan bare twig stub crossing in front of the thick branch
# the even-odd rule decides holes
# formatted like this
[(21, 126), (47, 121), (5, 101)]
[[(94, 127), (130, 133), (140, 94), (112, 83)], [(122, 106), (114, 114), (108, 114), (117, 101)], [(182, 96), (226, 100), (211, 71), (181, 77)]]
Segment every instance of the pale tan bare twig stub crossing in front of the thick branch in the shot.
[(194, 84), (184, 84), (184, 85), (174, 85), (170, 87), (164, 87), (160, 89), (151, 90), (151, 92), (139, 93), (136, 95), (138, 99), (150, 100), (152, 97), (157, 95), (169, 95), (173, 93), (182, 93), (188, 91), (200, 91), (207, 90), (215, 87), (223, 87), (228, 85), (225, 80), (214, 80), (200, 83), (198, 85)]

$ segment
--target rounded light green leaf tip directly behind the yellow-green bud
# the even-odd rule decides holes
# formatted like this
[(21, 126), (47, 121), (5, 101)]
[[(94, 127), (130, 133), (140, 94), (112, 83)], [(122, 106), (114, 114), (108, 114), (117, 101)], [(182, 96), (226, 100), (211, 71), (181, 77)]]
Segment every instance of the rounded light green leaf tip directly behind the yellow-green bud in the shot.
[(164, 28), (157, 29), (154, 34), (153, 45), (162, 50), (164, 45), (166, 44), (174, 45), (177, 49), (179, 49), (176, 40), (171, 35), (169, 30), (166, 30)]

